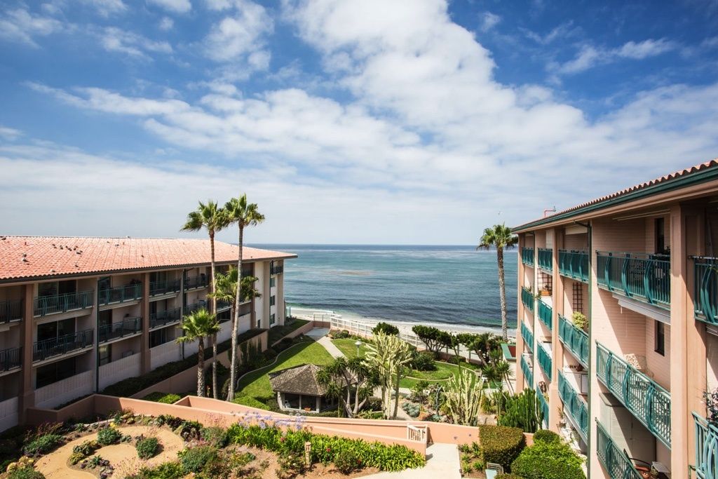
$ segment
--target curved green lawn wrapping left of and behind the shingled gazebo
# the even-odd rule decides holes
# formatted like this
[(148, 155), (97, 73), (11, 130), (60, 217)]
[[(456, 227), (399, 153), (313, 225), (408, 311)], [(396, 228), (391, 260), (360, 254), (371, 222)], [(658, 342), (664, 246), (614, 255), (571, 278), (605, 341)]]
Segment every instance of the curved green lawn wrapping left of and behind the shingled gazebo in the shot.
[(327, 350), (317, 343), (300, 343), (288, 350), (282, 351), (279, 360), (273, 366), (252, 371), (242, 378), (236, 391), (236, 396), (248, 396), (260, 402), (276, 397), (269, 385), (267, 374), (281, 369), (299, 366), (300, 364), (325, 365), (332, 361), (332, 356)]

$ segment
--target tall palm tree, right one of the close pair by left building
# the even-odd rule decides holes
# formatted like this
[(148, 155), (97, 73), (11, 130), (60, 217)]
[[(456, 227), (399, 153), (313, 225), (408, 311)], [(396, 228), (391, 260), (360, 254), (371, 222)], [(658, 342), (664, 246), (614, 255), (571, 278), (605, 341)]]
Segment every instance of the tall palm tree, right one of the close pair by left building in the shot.
[[(264, 215), (257, 210), (256, 203), (247, 203), (247, 195), (241, 195), (238, 198), (232, 198), (225, 203), (225, 212), (228, 222), (237, 223), (239, 228), (239, 258), (237, 259), (237, 282), (242, 284), (242, 250), (244, 248), (244, 228), (246, 226), (258, 225), (264, 221)], [(235, 358), (237, 357), (237, 330), (239, 328), (239, 304), (240, 304), (241, 288), (235, 295), (234, 317), (232, 324), (232, 361), (230, 363), (229, 372), (229, 394), (227, 400), (234, 399), (234, 380), (236, 376)]]

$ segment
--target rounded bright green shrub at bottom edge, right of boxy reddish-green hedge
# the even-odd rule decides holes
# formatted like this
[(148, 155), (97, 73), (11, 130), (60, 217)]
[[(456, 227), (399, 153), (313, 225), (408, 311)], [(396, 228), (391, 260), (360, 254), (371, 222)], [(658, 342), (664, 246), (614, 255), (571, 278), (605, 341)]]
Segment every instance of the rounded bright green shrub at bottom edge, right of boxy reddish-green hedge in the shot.
[(511, 464), (511, 473), (526, 479), (578, 479), (586, 476), (582, 460), (561, 442), (536, 442)]

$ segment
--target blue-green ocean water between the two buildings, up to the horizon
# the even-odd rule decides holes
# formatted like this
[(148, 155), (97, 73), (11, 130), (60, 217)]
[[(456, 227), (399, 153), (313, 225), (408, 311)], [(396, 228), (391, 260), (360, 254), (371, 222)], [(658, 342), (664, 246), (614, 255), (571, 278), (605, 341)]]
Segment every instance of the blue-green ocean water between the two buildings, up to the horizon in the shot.
[[(251, 245), (299, 255), (284, 262), (289, 306), (393, 322), (497, 327), (495, 251), (475, 246)], [(509, 327), (516, 321), (516, 250), (504, 255)]]

